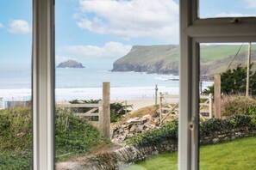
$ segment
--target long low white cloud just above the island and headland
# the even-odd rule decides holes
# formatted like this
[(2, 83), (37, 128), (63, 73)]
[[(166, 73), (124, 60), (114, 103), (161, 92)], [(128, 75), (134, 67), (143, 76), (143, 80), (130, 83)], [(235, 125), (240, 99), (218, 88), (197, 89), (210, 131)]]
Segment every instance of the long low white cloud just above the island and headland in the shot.
[(104, 46), (62, 46), (59, 52), (84, 58), (120, 58), (126, 55), (132, 46), (125, 46), (118, 42), (108, 42)]

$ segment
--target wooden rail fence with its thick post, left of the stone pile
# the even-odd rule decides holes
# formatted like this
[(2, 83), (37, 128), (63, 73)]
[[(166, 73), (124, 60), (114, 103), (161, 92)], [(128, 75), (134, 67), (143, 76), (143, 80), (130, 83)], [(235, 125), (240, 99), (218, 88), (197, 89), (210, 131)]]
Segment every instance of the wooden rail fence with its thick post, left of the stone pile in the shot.
[[(91, 108), (87, 112), (74, 112), (78, 117), (97, 117), (97, 119), (90, 120), (91, 124), (96, 126), (105, 137), (110, 138), (110, 84), (103, 82), (103, 100), (97, 104), (57, 104), (56, 107), (61, 108)], [(79, 109), (80, 108), (80, 109)], [(87, 109), (88, 110), (88, 109)]]

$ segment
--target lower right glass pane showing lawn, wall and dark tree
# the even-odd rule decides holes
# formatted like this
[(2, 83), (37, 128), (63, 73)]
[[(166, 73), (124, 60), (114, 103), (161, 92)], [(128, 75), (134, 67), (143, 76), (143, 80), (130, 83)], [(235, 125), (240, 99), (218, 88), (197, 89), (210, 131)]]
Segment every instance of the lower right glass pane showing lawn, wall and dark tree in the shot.
[(255, 62), (255, 43), (200, 45), (200, 169), (256, 167)]

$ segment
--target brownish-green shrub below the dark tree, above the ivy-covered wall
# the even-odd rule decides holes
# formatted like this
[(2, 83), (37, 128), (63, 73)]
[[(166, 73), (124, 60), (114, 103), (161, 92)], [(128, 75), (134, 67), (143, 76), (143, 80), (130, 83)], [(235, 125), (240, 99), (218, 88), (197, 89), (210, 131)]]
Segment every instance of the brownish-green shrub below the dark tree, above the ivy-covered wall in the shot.
[(245, 96), (223, 96), (222, 115), (231, 116), (236, 114), (256, 115), (256, 100)]

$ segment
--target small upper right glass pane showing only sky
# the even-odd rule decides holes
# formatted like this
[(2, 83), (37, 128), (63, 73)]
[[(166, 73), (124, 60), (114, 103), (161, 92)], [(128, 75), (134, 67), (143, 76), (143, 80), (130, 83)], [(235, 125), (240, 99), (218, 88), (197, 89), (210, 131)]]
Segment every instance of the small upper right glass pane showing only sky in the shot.
[(200, 18), (256, 16), (254, 0), (199, 0)]

